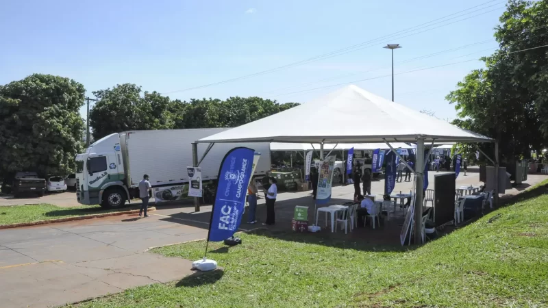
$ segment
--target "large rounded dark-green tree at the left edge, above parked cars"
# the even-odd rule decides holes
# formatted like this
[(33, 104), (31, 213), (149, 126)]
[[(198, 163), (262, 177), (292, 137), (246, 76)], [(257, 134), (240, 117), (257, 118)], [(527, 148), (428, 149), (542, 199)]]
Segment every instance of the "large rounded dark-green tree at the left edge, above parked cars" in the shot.
[(0, 177), (74, 172), (74, 157), (82, 152), (84, 93), (72, 79), (42, 74), (0, 86)]

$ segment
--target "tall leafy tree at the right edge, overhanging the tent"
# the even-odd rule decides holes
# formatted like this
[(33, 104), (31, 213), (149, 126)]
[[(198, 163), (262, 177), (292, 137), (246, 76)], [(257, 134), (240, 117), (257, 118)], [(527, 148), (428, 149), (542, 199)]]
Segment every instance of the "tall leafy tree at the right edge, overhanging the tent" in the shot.
[(499, 20), (499, 50), (446, 99), (454, 124), (499, 140), (503, 159), (527, 158), (548, 136), (548, 0), (510, 0)]

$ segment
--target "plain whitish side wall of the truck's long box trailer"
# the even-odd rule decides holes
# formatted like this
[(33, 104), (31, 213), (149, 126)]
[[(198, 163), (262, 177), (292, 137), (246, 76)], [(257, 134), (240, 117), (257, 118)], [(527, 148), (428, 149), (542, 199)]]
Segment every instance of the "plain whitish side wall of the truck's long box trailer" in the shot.
[[(188, 181), (186, 167), (192, 166), (192, 142), (225, 130), (227, 128), (128, 131), (129, 185), (136, 187), (145, 174), (149, 175), (152, 185)], [(270, 169), (269, 143), (219, 143), (200, 164), (203, 181), (217, 179), (223, 157), (237, 146), (247, 146), (261, 153), (256, 175), (264, 175)], [(208, 144), (198, 144), (198, 159), (207, 147)]]

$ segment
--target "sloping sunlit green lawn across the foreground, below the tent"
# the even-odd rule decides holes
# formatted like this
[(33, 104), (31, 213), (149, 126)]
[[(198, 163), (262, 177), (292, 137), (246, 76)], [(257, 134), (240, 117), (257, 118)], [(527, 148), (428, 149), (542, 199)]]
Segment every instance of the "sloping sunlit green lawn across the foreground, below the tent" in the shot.
[[(210, 243), (223, 270), (79, 307), (548, 307), (547, 194), (415, 250), (268, 231), (241, 238), (229, 249)], [(195, 260), (204, 246), (154, 252)]]

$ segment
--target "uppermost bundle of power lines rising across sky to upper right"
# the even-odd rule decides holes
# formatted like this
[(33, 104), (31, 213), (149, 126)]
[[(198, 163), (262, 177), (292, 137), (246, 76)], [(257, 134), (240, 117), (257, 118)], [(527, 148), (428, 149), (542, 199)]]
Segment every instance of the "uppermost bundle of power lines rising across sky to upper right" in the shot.
[[(472, 14), (472, 13), (474, 13), (474, 12), (478, 12), (478, 11), (480, 11), (480, 10), (484, 10), (484, 9), (486, 9), (486, 8), (490, 8), (490, 7), (494, 6), (494, 5), (498, 5), (498, 4), (504, 2), (504, 1), (499, 1), (499, 2), (495, 3), (494, 5), (489, 5), (489, 6), (487, 6), (487, 7), (480, 8), (480, 9), (475, 10), (475, 11), (473, 11), (473, 12), (468, 12), (468, 13), (466, 13), (466, 14), (462, 14), (462, 15), (460, 15), (460, 16), (452, 17), (452, 18), (449, 18), (449, 19), (447, 19), (447, 20), (445, 20), (445, 21), (441, 21), (441, 22), (432, 24), (434, 21), (440, 21), (441, 19), (447, 18), (447, 17), (449, 17), (449, 16), (453, 16), (453, 15), (456, 15), (456, 14), (460, 14), (460, 13), (462, 13), (462, 12), (466, 12), (466, 11), (469, 11), (469, 10), (473, 10), (474, 8), (479, 8), (479, 7), (483, 6), (483, 5), (486, 5), (486, 4), (488, 4), (488, 3), (493, 3), (493, 2), (495, 2), (495, 1), (498, 1), (498, 0), (487, 1), (487, 2), (485, 2), (485, 3), (479, 4), (479, 5), (475, 5), (475, 6), (471, 7), (471, 8), (466, 9), (466, 10), (462, 10), (462, 11), (460, 11), (460, 12), (456, 12), (456, 13), (453, 13), (453, 14), (449, 14), (449, 15), (447, 15), (447, 16), (443, 16), (443, 17), (440, 17), (440, 18), (436, 18), (436, 19), (434, 19), (433, 21), (429, 21), (429, 22), (427, 22), (427, 23), (422, 23), (421, 25), (416, 25), (416, 26), (410, 27), (410, 28), (408, 28), (408, 29), (403, 29), (403, 30), (401, 30), (401, 31), (397, 31), (397, 32), (395, 32), (395, 33), (393, 33), (393, 34), (388, 34), (388, 35), (386, 35), (386, 36), (382, 36), (382, 37), (379, 37), (379, 38), (376, 38), (376, 39), (373, 39), (373, 40), (369, 40), (369, 41), (366, 41), (366, 42), (362, 42), (362, 43), (360, 43), (360, 44), (355, 44), (355, 45), (352, 45), (352, 46), (350, 46), (350, 47), (346, 47), (346, 48), (343, 48), (343, 49), (338, 49), (338, 50), (332, 51), (332, 52), (330, 52), (330, 53), (324, 53), (324, 54), (322, 54), (322, 55), (317, 55), (317, 56), (315, 56), (315, 57), (310, 57), (310, 58), (308, 58), (308, 59), (306, 59), (306, 60), (301, 60), (301, 61), (298, 61), (298, 62), (293, 62), (293, 63), (290, 63), (290, 64), (286, 64), (286, 65), (284, 65), (284, 66), (279, 66), (279, 67), (277, 67), (277, 68), (271, 68), (271, 69), (269, 69), (269, 70), (262, 70), (262, 71), (260, 71), (260, 72), (258, 72), (258, 73), (253, 73), (253, 74), (250, 74), (250, 75), (245, 75), (245, 76), (241, 76), (241, 77), (235, 77), (235, 78), (232, 78), (232, 79), (227, 79), (227, 80), (224, 80), (224, 81), (214, 82), (214, 83), (212, 83), (212, 84), (205, 84), (205, 85), (203, 85), (203, 86), (195, 86), (195, 87), (191, 87), (191, 88), (185, 88), (185, 89), (182, 89), (182, 90), (175, 90), (175, 91), (171, 91), (171, 92), (164, 92), (164, 93), (162, 93), (162, 94), (170, 94), (170, 93), (174, 93), (174, 92), (184, 92), (184, 91), (188, 91), (188, 90), (195, 90), (195, 89), (199, 89), (199, 88), (206, 88), (206, 87), (210, 87), (210, 86), (217, 86), (217, 85), (219, 85), (219, 84), (226, 84), (226, 83), (229, 83), (229, 82), (232, 82), (232, 81), (238, 81), (238, 80), (241, 80), (241, 79), (247, 79), (247, 78), (255, 77), (255, 76), (258, 76), (258, 75), (264, 75), (264, 74), (266, 74), (266, 73), (273, 73), (273, 72), (275, 72), (275, 71), (277, 71), (277, 70), (282, 70), (282, 69), (284, 69), (284, 68), (289, 68), (289, 67), (291, 67), (291, 66), (297, 66), (297, 65), (301, 65), (301, 64), (306, 64), (306, 63), (309, 63), (309, 62), (317, 61), (317, 60), (323, 60), (323, 59), (326, 59), (327, 57), (330, 57), (330, 56), (343, 55), (343, 54), (345, 54), (345, 53), (352, 52), (352, 51), (348, 51), (349, 49), (355, 49), (356, 47), (360, 47), (360, 46), (362, 46), (362, 45), (364, 45), (364, 44), (370, 44), (370, 43), (373, 42), (373, 41), (386, 39), (386, 38), (389, 38), (390, 36), (394, 36), (394, 35), (399, 35), (399, 34), (402, 34), (401, 32), (403, 32), (403, 34), (405, 34), (405, 33), (409, 32), (409, 31), (415, 31), (415, 30), (417, 30), (417, 28), (418, 28), (418, 29), (421, 29), (421, 28), (423, 28), (423, 27), (430, 27), (430, 26), (432, 26), (432, 25), (436, 25), (436, 24), (438, 24), (438, 23), (443, 23), (443, 22), (445, 22), (445, 21), (449, 21), (449, 20), (451, 20), (451, 19), (453, 19), (453, 18), (458, 18), (458, 17), (464, 16), (464, 15), (466, 15), (466, 14)], [(495, 10), (498, 10), (498, 8), (495, 9)], [(493, 10), (493, 11), (494, 11), (494, 10)], [(493, 11), (489, 11), (489, 12), (493, 12)], [(486, 14), (486, 13), (488, 13), (488, 12), (485, 12), (485, 13), (482, 13), (482, 14)], [(482, 15), (482, 14), (479, 14), (479, 15)], [(475, 16), (479, 16), (479, 15), (475, 15)], [(469, 18), (472, 18), (472, 17), (475, 17), (475, 16), (471, 16), (471, 17), (469, 17)], [(464, 20), (466, 20), (466, 19), (468, 19), (468, 18), (464, 18), (464, 19), (459, 20), (459, 21), (464, 21)], [(455, 22), (453, 22), (453, 23), (456, 23), (456, 22), (459, 22), (459, 21), (455, 21)], [(427, 24), (430, 24), (430, 25), (427, 25)], [(448, 25), (450, 25), (450, 24), (452, 24), (452, 23), (449, 23)], [(427, 25), (427, 26), (424, 26), (424, 25)], [(421, 26), (423, 26), (423, 27), (421, 27)], [(443, 25), (443, 26), (445, 26), (445, 25)], [(442, 26), (440, 26), (440, 27), (442, 27)], [(437, 28), (438, 28), (438, 27), (434, 27), (434, 28), (432, 28), (432, 29), (437, 29)], [(425, 30), (425, 31), (429, 31), (429, 30), (432, 30), (432, 29), (427, 29), (427, 30)], [(421, 32), (419, 32), (419, 33), (422, 33), (422, 32), (423, 32), (423, 31), (421, 31)], [(419, 33), (416, 33), (416, 34), (419, 34)], [(411, 34), (411, 35), (415, 35), (415, 34)], [(404, 36), (404, 37), (405, 37), (405, 36)], [(362, 48), (364, 48), (364, 47), (362, 47)], [(360, 48), (360, 49), (362, 49), (362, 48)], [(356, 50), (359, 50), (359, 49), (356, 49)], [(356, 50), (353, 50), (353, 51), (356, 51)], [(340, 53), (341, 51), (347, 51), (347, 52), (345, 52), (345, 53)], [(340, 53), (340, 54), (339, 54), (339, 53)]]

